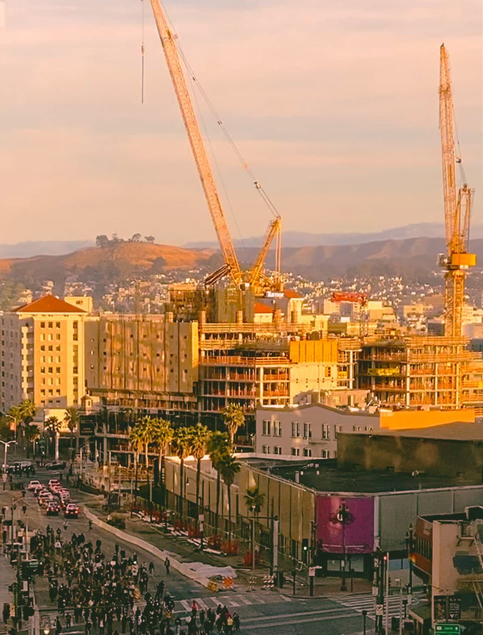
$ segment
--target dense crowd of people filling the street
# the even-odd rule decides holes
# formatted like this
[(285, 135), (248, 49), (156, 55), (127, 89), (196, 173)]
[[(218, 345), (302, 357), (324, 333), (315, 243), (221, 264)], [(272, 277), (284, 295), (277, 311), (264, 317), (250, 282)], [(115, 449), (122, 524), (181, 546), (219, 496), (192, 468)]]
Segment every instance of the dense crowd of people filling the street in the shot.
[[(84, 533), (65, 539), (60, 528), (47, 526), (44, 534), (31, 538), (37, 573), (48, 578), (49, 598), (57, 603), (55, 635), (74, 624), (84, 625), (92, 635), (231, 635), (240, 631), (240, 616), (226, 606), (204, 610), (196, 601), (191, 615), (174, 615), (174, 599), (164, 580), (153, 583), (154, 564), (139, 563), (137, 554), (126, 554), (114, 546), (107, 557), (102, 542), (88, 540)], [(170, 562), (165, 563), (169, 579)], [(151, 585), (150, 585), (151, 582)], [(151, 591), (150, 591), (151, 586)]]

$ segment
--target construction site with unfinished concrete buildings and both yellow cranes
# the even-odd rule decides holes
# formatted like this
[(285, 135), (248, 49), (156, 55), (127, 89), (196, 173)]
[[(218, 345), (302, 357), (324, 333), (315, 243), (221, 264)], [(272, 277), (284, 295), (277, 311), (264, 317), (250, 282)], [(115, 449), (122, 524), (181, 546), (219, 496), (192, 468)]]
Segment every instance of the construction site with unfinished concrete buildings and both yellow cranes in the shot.
[[(337, 328), (329, 316), (304, 311), (303, 298), (284, 288), (282, 218), (254, 177), (273, 218), (254, 263), (242, 269), (189, 95), (182, 68), (186, 60), (160, 2), (151, 0), (151, 6), (223, 264), (203, 284), (173, 285), (163, 315), (92, 318), (93, 337), (86, 337), (93, 343), (86, 352), (90, 396), (107, 410), (142, 410), (173, 421), (215, 425), (229, 404), (241, 406), (250, 418), (257, 406), (283, 407), (307, 394), (318, 401), (323, 394), (349, 395), (353, 389), (367, 391), (367, 401), (378, 407), (473, 408), (483, 415), (483, 360), (461, 335), (465, 278), (476, 258), (468, 248), (472, 190), (465, 182), (458, 186), (461, 156), (444, 45), (439, 81), (447, 246), (439, 255), (444, 335), (415, 336), (393, 324), (384, 326), (384, 321), (371, 322), (365, 317), (370, 298), (343, 289), (332, 294), (331, 302), (352, 304), (357, 321), (351, 329), (347, 324)], [(266, 271), (274, 245), (275, 270)]]

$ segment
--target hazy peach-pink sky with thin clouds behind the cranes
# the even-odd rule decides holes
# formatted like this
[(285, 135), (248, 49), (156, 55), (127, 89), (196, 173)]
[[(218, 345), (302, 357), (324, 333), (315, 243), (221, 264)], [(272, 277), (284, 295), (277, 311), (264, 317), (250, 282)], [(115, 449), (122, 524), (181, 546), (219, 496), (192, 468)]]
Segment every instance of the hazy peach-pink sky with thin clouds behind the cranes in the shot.
[[(443, 220), (444, 41), (481, 222), (481, 0), (165, 6), (286, 230)], [(0, 78), (0, 242), (137, 231), (173, 244), (214, 237), (149, 0), (6, 0)], [(233, 236), (262, 233), (269, 211), (201, 100), (200, 109)]]

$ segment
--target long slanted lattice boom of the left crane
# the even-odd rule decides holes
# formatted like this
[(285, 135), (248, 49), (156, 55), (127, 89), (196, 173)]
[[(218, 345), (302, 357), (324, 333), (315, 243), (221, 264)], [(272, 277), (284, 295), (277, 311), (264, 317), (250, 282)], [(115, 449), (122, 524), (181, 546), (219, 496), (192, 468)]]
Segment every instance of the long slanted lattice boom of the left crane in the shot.
[(240, 264), (236, 257), (235, 247), (233, 246), (228, 224), (226, 223), (226, 218), (222, 210), (210, 162), (208, 161), (198, 121), (194, 114), (193, 104), (189, 97), (173, 34), (168, 27), (168, 22), (161, 7), (160, 0), (151, 0), (151, 8), (153, 9), (154, 20), (156, 21), (156, 27), (158, 27), (158, 33), (160, 34), (161, 45), (165, 53), (173, 88), (178, 100), (181, 116), (189, 139), (189, 145), (191, 145), (194, 162), (196, 163), (198, 175), (200, 176), (201, 186), (203, 187), (224, 262), (229, 267), (229, 273), (233, 281), (236, 284), (240, 284), (242, 278)]

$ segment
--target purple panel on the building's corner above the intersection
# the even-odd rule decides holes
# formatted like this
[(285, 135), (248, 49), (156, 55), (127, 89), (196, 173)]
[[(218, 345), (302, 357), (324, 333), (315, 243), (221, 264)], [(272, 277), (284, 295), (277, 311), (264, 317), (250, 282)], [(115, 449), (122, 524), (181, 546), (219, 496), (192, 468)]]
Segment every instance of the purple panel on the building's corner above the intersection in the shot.
[(317, 497), (317, 540), (322, 551), (361, 554), (374, 549), (372, 497)]

